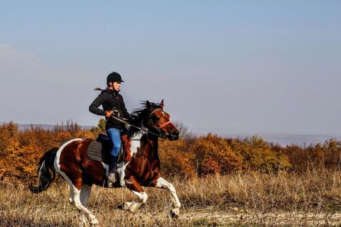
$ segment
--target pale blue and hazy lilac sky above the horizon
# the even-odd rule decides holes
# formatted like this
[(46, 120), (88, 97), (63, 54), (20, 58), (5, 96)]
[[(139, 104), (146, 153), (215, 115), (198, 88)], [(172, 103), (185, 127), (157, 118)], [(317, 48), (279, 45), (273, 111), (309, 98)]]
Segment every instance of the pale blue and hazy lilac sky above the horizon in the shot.
[(97, 126), (129, 112), (194, 133), (341, 135), (341, 1), (0, 1), (0, 121)]

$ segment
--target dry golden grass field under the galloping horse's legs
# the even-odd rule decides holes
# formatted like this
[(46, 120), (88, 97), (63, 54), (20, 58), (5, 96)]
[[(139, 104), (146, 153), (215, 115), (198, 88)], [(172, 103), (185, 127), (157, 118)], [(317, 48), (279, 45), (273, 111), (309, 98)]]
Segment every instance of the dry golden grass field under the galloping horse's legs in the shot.
[[(127, 189), (94, 186), (89, 209), (100, 226), (341, 226), (341, 172), (244, 172), (172, 179), (182, 203), (170, 216), (170, 195), (146, 188), (147, 204), (135, 214), (117, 206), (136, 199)], [(0, 226), (88, 226), (68, 202), (65, 182), (32, 194), (26, 184), (0, 183)]]

